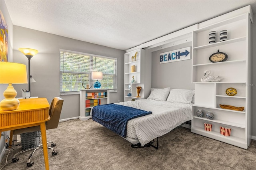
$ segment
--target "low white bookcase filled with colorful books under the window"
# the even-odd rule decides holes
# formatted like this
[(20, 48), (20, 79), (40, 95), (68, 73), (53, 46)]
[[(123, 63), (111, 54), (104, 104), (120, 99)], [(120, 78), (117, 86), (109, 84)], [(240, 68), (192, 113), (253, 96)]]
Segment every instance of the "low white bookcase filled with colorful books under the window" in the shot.
[(109, 103), (108, 89), (84, 89), (80, 90), (80, 120), (88, 120), (92, 117), (91, 109), (97, 105)]

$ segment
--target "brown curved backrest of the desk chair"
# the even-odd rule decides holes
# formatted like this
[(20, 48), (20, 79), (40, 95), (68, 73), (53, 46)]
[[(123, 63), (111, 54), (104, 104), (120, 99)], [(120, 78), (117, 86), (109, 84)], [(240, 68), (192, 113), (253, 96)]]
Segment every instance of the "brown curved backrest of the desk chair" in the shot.
[(46, 129), (57, 128), (60, 121), (60, 113), (62, 110), (63, 99), (54, 97), (49, 109), (50, 120), (46, 122)]

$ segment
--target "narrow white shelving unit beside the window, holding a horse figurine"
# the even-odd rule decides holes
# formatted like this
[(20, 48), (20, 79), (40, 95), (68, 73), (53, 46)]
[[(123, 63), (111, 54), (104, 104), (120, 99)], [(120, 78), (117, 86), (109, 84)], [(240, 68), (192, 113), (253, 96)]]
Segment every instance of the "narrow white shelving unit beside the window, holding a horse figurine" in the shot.
[[(132, 61), (132, 56), (135, 55), (135, 53), (138, 52), (135, 58)], [(144, 49), (136, 49), (134, 51), (130, 51), (128, 53), (124, 54), (124, 101), (131, 101), (132, 99), (138, 100), (138, 99), (144, 99), (144, 75), (145, 75), (145, 52)], [(132, 72), (131, 66), (135, 65), (135, 71)], [(131, 83), (132, 76), (134, 76), (135, 83)], [(131, 85), (131, 89), (128, 89), (128, 85)], [(140, 91), (140, 97), (136, 97), (137, 94), (137, 88), (136, 87), (142, 87)], [(151, 88), (151, 84), (150, 84)], [(132, 96), (128, 96), (128, 93), (131, 93)]]

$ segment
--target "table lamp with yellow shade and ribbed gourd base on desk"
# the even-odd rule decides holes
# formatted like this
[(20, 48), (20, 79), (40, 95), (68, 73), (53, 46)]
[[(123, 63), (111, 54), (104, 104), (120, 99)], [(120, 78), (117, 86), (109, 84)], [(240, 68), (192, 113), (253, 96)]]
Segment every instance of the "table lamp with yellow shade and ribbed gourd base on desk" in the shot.
[(0, 109), (12, 111), (19, 107), (20, 101), (16, 99), (17, 92), (12, 84), (28, 83), (26, 65), (20, 63), (0, 62), (0, 84), (9, 84), (4, 91), (4, 97), (0, 102)]

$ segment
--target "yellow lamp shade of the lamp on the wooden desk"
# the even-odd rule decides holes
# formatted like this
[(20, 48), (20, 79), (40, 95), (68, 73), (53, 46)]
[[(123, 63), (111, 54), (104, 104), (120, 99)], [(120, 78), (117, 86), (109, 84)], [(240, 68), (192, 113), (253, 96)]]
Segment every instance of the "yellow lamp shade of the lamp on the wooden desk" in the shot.
[(20, 63), (0, 62), (0, 84), (28, 83), (26, 65)]

